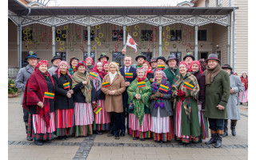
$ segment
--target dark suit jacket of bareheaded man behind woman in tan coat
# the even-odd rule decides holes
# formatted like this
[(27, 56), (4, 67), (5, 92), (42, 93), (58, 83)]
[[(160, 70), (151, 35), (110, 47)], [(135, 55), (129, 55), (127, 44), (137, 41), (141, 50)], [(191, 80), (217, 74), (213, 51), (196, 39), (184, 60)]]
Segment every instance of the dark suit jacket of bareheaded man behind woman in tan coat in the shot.
[[(133, 73), (133, 78), (126, 78), (125, 66), (123, 66), (119, 71), (120, 71), (121, 75), (123, 76), (123, 78), (125, 79), (126, 82), (131, 83), (137, 77), (136, 68), (134, 68), (133, 66), (130, 66), (130, 70), (128, 72), (128, 73)], [(126, 87), (126, 91), (122, 94), (122, 100), (123, 100), (122, 102), (123, 102), (123, 107), (124, 108), (128, 107), (127, 88), (128, 88), (128, 86)]]

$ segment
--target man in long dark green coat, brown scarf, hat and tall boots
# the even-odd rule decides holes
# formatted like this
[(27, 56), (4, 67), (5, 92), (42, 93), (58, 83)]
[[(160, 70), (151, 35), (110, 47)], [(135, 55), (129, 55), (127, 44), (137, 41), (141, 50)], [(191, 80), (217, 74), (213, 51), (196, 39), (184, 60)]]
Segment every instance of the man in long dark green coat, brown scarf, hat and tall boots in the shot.
[(217, 54), (210, 54), (206, 59), (206, 118), (210, 124), (211, 138), (206, 145), (215, 143), (214, 147), (222, 146), (226, 104), (230, 98), (230, 76), (219, 65)]

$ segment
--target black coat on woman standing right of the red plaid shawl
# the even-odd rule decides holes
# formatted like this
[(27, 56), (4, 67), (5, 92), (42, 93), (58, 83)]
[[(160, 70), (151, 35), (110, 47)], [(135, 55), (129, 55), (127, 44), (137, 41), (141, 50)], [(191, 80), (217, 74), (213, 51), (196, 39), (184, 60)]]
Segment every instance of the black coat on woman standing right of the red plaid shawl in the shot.
[(55, 94), (55, 103), (54, 108), (57, 109), (73, 109), (74, 108), (74, 94), (72, 94), (71, 98), (66, 97), (66, 93), (69, 90), (64, 89), (63, 84), (66, 82), (70, 82), (70, 90), (72, 86), (72, 79), (69, 75), (60, 74), (58, 78), (58, 74), (53, 75), (54, 78), (54, 94)]

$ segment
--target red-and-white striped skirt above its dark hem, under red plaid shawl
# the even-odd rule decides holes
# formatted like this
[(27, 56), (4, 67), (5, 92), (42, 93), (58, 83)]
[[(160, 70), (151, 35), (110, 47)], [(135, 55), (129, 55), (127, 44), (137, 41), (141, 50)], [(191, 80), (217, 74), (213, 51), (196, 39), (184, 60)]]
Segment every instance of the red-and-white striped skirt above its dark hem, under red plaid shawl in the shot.
[(55, 131), (54, 112), (50, 113), (50, 124), (48, 127), (46, 126), (46, 122), (42, 115), (33, 114), (33, 129), (34, 134), (53, 133)]

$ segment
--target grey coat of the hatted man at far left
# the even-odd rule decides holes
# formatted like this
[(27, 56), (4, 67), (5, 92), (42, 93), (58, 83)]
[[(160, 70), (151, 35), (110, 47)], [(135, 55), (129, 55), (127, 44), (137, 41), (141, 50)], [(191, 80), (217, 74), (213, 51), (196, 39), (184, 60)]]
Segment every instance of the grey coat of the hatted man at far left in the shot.
[(30, 78), (30, 75), (33, 73), (33, 71), (34, 71), (34, 67), (30, 65), (27, 65), (18, 71), (18, 75), (14, 84), (19, 90), (22, 90), (21, 104), (23, 102), (23, 94), (26, 86), (26, 81), (28, 78)]

